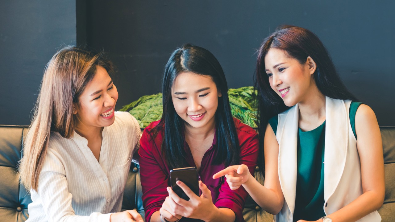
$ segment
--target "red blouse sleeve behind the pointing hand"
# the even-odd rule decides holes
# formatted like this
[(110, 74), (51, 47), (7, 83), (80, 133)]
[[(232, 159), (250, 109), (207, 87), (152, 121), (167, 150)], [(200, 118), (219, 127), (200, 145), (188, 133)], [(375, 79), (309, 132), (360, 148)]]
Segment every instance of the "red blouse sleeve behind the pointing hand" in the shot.
[[(239, 164), (247, 165), (250, 173), (254, 175), (254, 169), (258, 160), (258, 134), (250, 126), (247, 126), (241, 122), (235, 121), (235, 126), (240, 144)], [(226, 182), (225, 177), (223, 177), (223, 180), (224, 182), (220, 187), (220, 193), (216, 200), (215, 206), (218, 208), (225, 207), (231, 209), (236, 215), (235, 221), (244, 221), (243, 208), (248, 193), (243, 188), (243, 186), (240, 186), (240, 188), (237, 190), (231, 190), (228, 183)]]

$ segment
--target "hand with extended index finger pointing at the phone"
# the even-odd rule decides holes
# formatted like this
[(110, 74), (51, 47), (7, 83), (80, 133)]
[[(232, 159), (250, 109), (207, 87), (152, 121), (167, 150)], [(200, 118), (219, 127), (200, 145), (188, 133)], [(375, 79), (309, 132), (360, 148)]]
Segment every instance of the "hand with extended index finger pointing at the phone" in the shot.
[(245, 164), (241, 164), (226, 167), (214, 174), (213, 179), (217, 179), (222, 176), (226, 177), (226, 182), (228, 182), (231, 190), (236, 190), (241, 186), (241, 184), (246, 183), (252, 175), (250, 171), (248, 171), (248, 167)]

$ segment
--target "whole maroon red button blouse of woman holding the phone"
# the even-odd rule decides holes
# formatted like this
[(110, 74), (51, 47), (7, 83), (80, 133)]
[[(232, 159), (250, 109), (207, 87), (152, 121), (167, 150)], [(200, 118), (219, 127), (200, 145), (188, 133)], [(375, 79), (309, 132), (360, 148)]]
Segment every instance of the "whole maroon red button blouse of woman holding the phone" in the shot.
[[(240, 143), (240, 164), (246, 164), (251, 174), (254, 174), (258, 158), (258, 135), (250, 126), (243, 124), (238, 119), (234, 119), (237, 136)], [(162, 158), (161, 146), (164, 136), (164, 129), (162, 129), (156, 138), (152, 139), (150, 130), (158, 125), (159, 120), (152, 122), (145, 128), (140, 139), (140, 174), (141, 186), (143, 190), (143, 206), (145, 210), (145, 220), (150, 221), (152, 214), (159, 211), (162, 203), (168, 196), (166, 187), (170, 186), (169, 167), (166, 160)], [(244, 222), (243, 208), (247, 192), (241, 186), (237, 190), (231, 190), (225, 177), (220, 179), (213, 179), (214, 173), (226, 168), (224, 164), (213, 165), (214, 159), (217, 156), (216, 149), (216, 135), (214, 135), (213, 145), (206, 151), (201, 160), (199, 180), (207, 185), (211, 191), (213, 203), (216, 207), (229, 208), (235, 215), (237, 222)], [(185, 147), (188, 156), (187, 163), (189, 166), (195, 166), (192, 154), (188, 145)], [(187, 167), (187, 166), (185, 166)], [(183, 218), (182, 221), (188, 221)]]

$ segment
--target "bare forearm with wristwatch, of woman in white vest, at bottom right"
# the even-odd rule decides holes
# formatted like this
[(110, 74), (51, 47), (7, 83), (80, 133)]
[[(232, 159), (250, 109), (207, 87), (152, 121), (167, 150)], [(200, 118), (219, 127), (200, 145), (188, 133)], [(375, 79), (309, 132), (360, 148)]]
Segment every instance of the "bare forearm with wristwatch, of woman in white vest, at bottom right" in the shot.
[(373, 190), (367, 191), (357, 199), (338, 211), (327, 215), (333, 222), (354, 222), (369, 213), (378, 210), (383, 204), (382, 194)]

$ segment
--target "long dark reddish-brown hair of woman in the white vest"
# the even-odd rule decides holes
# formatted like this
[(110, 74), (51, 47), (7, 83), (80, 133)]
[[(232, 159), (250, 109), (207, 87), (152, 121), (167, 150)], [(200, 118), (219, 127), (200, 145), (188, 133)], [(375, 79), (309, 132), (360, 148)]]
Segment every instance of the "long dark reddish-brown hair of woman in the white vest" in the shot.
[(297, 26), (278, 27), (263, 40), (256, 60), (255, 87), (258, 90), (257, 119), (260, 138), (258, 164), (262, 167), (261, 169), (264, 169), (265, 165), (263, 139), (268, 121), (271, 117), (289, 109), (270, 87), (269, 78), (265, 72), (265, 56), (272, 48), (284, 50), (290, 58), (295, 58), (300, 64), (305, 64), (307, 57), (310, 56), (317, 65), (313, 78), (322, 94), (333, 99), (357, 101), (357, 98), (343, 85), (324, 44), (313, 32)]

